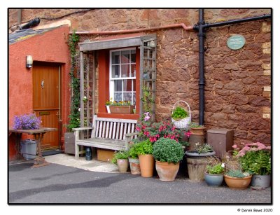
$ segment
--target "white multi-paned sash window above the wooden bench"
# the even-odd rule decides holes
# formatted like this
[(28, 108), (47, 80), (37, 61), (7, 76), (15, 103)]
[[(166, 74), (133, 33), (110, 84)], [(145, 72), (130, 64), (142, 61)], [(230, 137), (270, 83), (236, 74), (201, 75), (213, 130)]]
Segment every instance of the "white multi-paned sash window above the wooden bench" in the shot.
[(136, 103), (136, 49), (110, 51), (110, 98)]

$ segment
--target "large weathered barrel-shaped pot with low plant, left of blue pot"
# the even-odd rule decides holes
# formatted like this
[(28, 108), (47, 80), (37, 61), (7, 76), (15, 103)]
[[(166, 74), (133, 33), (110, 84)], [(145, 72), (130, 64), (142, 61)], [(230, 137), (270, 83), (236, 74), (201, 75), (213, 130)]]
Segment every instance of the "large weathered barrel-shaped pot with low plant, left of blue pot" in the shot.
[(188, 176), (191, 181), (203, 181), (206, 167), (216, 154), (209, 144), (197, 144), (195, 150), (186, 151)]

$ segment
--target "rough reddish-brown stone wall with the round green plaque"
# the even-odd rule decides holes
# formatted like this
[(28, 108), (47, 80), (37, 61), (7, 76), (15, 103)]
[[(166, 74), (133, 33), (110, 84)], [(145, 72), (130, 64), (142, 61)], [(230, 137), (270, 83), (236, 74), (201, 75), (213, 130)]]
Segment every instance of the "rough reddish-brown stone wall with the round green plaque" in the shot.
[[(30, 9), (22, 11), (22, 21), (35, 17), (57, 18), (82, 9)], [(269, 9), (207, 9), (206, 22), (270, 14)], [(15, 25), (16, 10), (10, 10), (9, 25)], [(114, 9), (74, 13), (71, 28), (78, 31), (137, 29), (185, 23), (195, 25), (196, 9)], [(41, 20), (41, 25), (51, 20)], [(53, 22), (53, 21), (52, 21)], [(205, 39), (205, 115), (207, 128), (234, 130), (235, 144), (241, 141), (271, 143), (271, 23), (269, 20), (211, 28)], [(156, 33), (157, 99), (156, 118), (168, 118), (176, 101), (190, 104), (192, 118), (198, 121), (198, 39), (197, 32), (181, 28), (162, 29)], [(232, 34), (246, 39), (244, 48), (230, 50), (226, 42)], [(99, 39), (104, 36), (82, 36)]]

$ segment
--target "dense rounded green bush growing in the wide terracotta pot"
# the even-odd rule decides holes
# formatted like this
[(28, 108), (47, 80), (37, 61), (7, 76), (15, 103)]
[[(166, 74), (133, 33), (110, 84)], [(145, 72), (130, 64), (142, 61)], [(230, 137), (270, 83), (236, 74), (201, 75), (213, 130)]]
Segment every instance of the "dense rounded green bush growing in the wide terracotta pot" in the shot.
[(161, 162), (177, 163), (183, 159), (183, 148), (174, 139), (160, 138), (153, 146), (153, 157)]

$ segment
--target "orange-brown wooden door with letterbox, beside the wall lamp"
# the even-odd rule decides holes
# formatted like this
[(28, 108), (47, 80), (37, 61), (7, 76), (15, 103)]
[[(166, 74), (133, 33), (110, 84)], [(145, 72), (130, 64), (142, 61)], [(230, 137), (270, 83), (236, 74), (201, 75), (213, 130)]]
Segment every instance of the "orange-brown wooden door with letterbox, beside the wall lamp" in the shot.
[(42, 148), (59, 148), (59, 67), (34, 65), (32, 76), (34, 112), (41, 116), (42, 127), (57, 128), (57, 131), (44, 135)]

